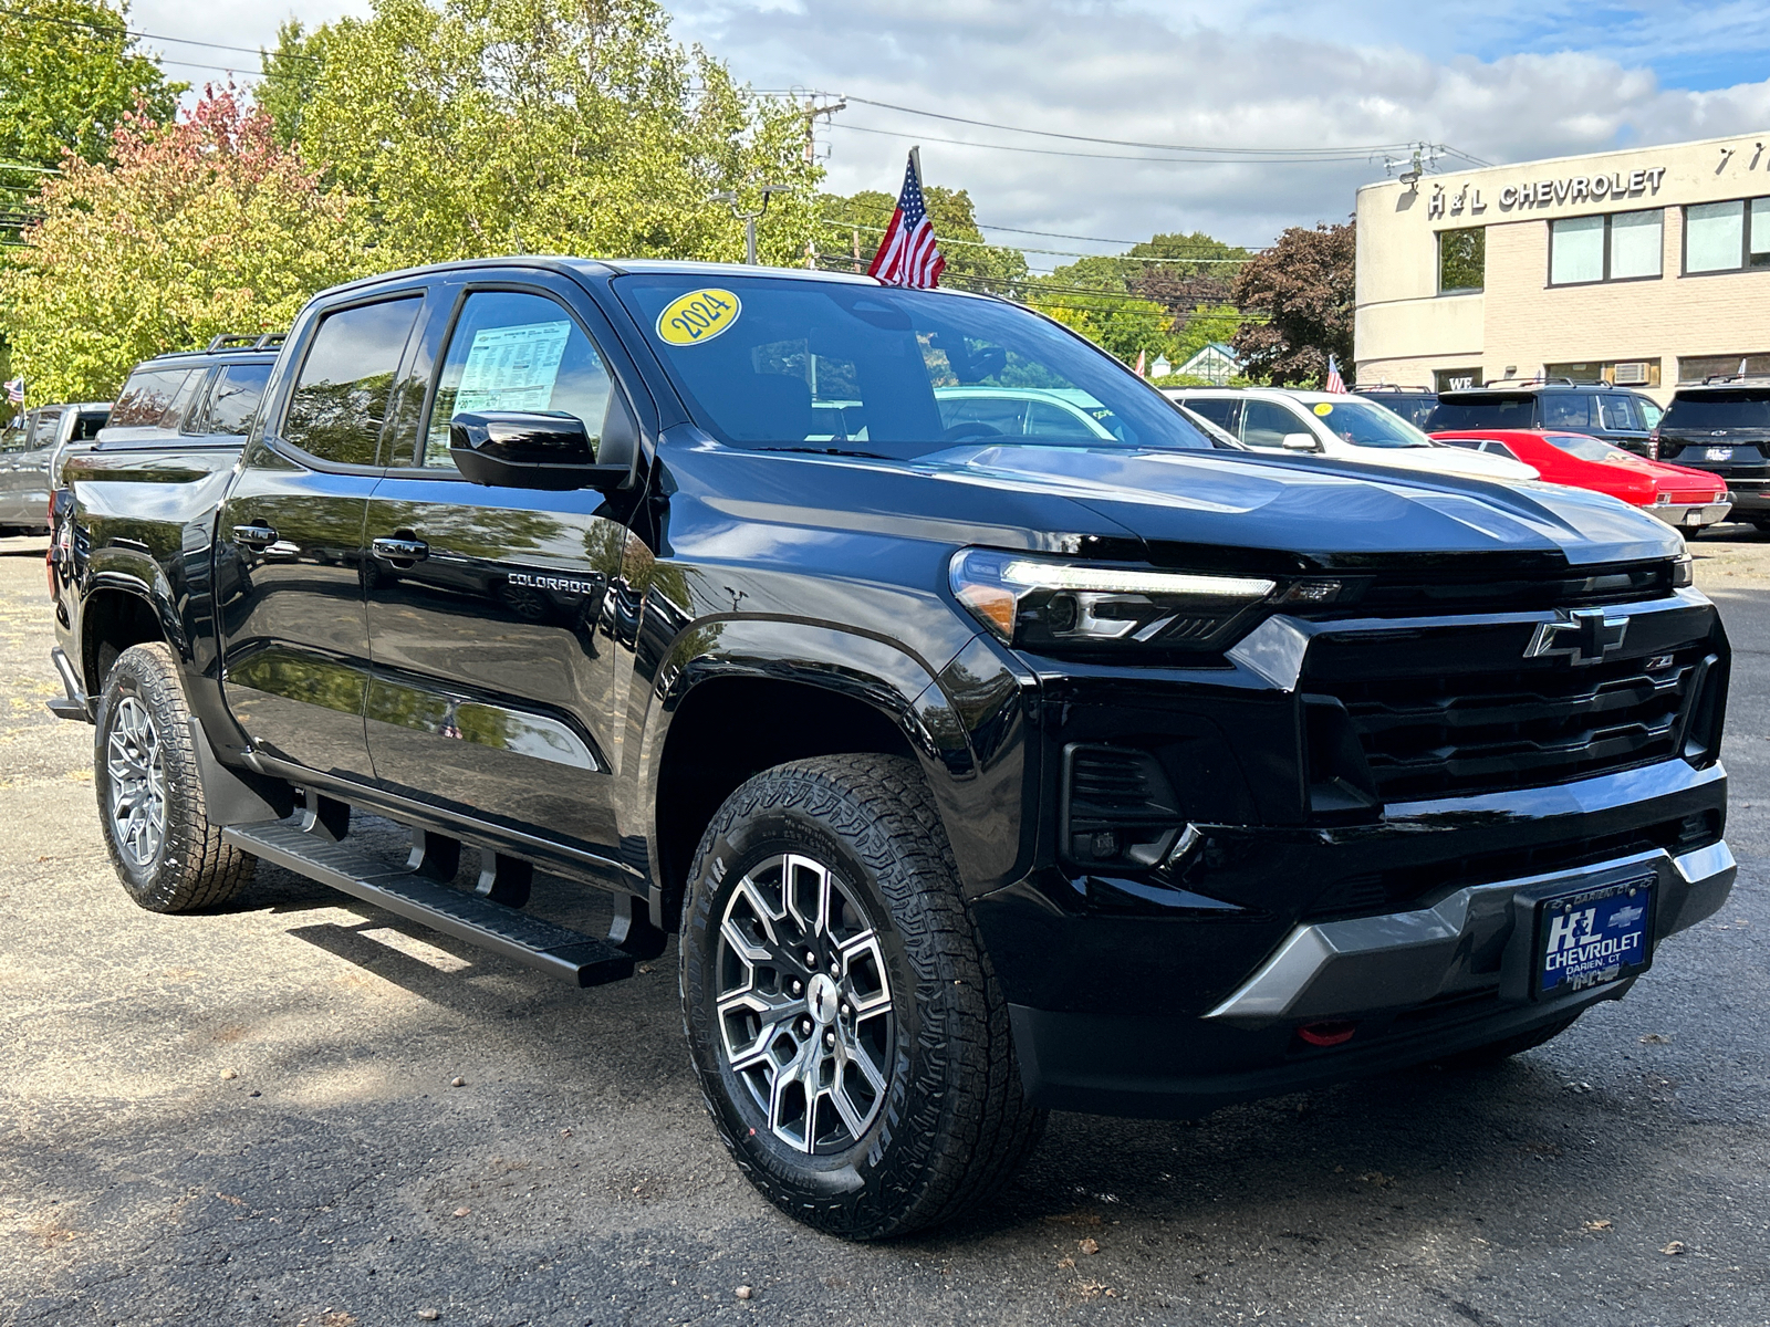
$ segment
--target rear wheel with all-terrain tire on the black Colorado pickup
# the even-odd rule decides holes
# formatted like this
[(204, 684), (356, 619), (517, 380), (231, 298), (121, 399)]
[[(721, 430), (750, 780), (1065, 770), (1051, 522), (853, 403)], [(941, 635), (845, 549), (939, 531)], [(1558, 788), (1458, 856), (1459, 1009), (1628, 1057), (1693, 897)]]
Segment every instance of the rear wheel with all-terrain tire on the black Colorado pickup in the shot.
[[(99, 699), (92, 784), (117, 878), (150, 913), (223, 904), (257, 865), (209, 825), (189, 718), (168, 646), (117, 656)], [(158, 816), (147, 810), (156, 800)]]

